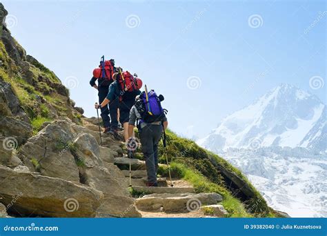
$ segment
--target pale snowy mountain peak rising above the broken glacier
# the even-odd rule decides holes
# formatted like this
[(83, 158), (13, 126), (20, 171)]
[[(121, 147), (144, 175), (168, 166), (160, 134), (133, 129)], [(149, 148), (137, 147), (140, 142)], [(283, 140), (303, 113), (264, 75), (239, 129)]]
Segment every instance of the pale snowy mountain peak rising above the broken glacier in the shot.
[(315, 95), (283, 83), (250, 106), (226, 117), (197, 143), (226, 148), (304, 147), (326, 152), (326, 105)]

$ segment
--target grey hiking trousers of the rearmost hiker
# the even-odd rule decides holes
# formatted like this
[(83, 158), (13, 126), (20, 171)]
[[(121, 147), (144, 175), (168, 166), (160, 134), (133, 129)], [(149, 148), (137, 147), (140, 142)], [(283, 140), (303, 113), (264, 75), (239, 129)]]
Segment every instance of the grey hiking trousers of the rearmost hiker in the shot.
[(162, 126), (148, 124), (139, 131), (142, 144), (142, 153), (146, 159), (148, 182), (157, 184), (158, 144), (161, 138)]

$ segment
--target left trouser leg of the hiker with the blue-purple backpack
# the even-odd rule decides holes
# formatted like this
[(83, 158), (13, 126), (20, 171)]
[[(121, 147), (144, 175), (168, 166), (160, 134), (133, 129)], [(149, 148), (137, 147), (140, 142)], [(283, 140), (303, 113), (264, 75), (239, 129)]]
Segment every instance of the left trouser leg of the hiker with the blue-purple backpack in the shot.
[(157, 173), (155, 168), (155, 155), (153, 151), (152, 132), (144, 127), (139, 132), (142, 144), (142, 153), (146, 159), (146, 172), (148, 173), (148, 183), (157, 184)]

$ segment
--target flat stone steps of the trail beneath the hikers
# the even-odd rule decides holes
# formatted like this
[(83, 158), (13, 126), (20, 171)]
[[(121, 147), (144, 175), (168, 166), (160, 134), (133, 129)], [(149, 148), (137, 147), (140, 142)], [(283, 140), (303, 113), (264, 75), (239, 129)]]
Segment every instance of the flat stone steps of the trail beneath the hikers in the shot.
[[(90, 121), (90, 119), (89, 119)], [(92, 126), (87, 125), (91, 130), (97, 128), (97, 120), (92, 121)], [(106, 138), (105, 138), (106, 139)], [(116, 149), (117, 156), (113, 163), (117, 166), (129, 185), (129, 176), (131, 174), (132, 191), (139, 193), (135, 198), (135, 206), (142, 217), (225, 217), (228, 215), (223, 206), (217, 204), (222, 198), (217, 193), (199, 193), (196, 194), (194, 188), (183, 179), (172, 179), (158, 177), (158, 187), (148, 187), (146, 164), (140, 159), (129, 159), (126, 157), (121, 141), (112, 140), (112, 144), (122, 147)], [(105, 146), (108, 146), (105, 144)], [(142, 156), (142, 153), (136, 153), (136, 156)], [(129, 171), (129, 165), (131, 172)], [(159, 164), (166, 166), (165, 164)]]

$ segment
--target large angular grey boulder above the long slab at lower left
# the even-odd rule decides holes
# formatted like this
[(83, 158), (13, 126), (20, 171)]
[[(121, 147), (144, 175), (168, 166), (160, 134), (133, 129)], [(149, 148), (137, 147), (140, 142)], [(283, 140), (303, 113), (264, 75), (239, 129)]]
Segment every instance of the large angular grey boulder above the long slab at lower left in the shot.
[(19, 149), (19, 157), (31, 171), (79, 182), (79, 168), (70, 152), (74, 134), (69, 125), (49, 124)]

